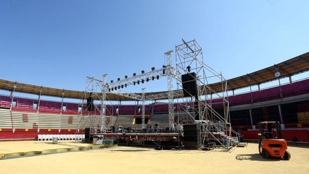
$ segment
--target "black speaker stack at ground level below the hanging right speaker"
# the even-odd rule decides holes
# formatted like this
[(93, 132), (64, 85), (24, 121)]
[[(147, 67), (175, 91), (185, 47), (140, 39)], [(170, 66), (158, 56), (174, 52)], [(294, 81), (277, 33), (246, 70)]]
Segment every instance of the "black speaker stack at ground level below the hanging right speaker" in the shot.
[(198, 124), (183, 125), (183, 144), (185, 149), (199, 149), (200, 129)]

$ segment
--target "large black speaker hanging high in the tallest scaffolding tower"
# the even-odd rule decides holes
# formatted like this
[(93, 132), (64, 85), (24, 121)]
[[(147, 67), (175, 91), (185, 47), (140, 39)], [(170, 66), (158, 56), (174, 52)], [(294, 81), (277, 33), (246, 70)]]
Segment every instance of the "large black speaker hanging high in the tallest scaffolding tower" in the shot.
[(196, 84), (195, 72), (182, 74), (181, 82), (184, 97), (197, 96), (197, 84)]

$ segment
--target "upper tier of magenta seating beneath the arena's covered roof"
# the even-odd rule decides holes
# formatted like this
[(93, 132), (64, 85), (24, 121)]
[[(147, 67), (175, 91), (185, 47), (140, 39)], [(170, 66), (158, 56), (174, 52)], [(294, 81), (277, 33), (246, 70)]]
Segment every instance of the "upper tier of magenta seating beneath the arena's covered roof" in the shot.
[[(295, 95), (301, 95), (309, 93), (309, 79), (302, 80), (295, 82), (293, 84), (286, 84), (281, 86), (282, 89), (282, 95), (283, 97), (291, 97)], [(250, 93), (244, 93), (244, 94), (238, 94), (235, 96), (229, 96), (228, 100), (230, 102), (230, 106), (236, 106), (236, 105), (243, 105), (252, 103), (251, 102), (251, 95), (253, 103), (256, 102), (263, 102), (273, 99), (279, 99), (280, 96), (280, 87), (273, 87), (264, 89), (261, 91), (253, 91)], [(24, 98), (18, 98), (16, 99), (16, 107), (15, 110), (18, 110), (18, 108), (22, 108), (24, 111), (33, 110), (33, 102), (37, 102), (37, 100), (34, 99), (24, 99)], [(10, 107), (10, 101), (11, 99), (9, 96), (0, 96), (0, 108), (9, 108)], [(212, 99), (211, 101), (207, 101), (207, 103), (211, 104), (211, 106), (215, 108), (221, 108), (223, 106), (222, 99)], [(66, 110), (63, 111), (64, 114), (77, 114), (78, 112), (78, 106), (77, 103), (63, 103), (63, 106), (66, 106)], [(59, 114), (61, 110), (61, 102), (53, 102), (53, 101), (40, 101), (40, 113), (54, 113)], [(85, 109), (86, 106), (83, 106)], [(179, 108), (177, 104), (174, 104), (175, 111)], [(119, 113), (116, 112), (116, 109), (119, 108)], [(27, 110), (28, 109), (28, 110)], [(117, 116), (119, 115), (131, 115), (131, 114), (139, 114), (142, 106), (141, 105), (120, 105), (120, 106), (107, 106), (106, 115), (108, 116)], [(35, 111), (35, 109), (34, 109)], [(145, 113), (168, 113), (168, 104), (157, 104), (157, 105), (146, 105), (145, 106)], [(96, 115), (99, 115), (98, 112), (95, 113)]]

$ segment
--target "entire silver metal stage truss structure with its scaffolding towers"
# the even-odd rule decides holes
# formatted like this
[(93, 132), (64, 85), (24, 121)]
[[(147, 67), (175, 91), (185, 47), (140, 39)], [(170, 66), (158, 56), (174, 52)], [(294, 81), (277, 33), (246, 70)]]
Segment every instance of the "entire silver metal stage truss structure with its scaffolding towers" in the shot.
[[(182, 39), (182, 41), (182, 44), (175, 46), (176, 68), (172, 66), (171, 53), (173, 50), (170, 50), (164, 53), (166, 65), (157, 70), (152, 68), (149, 72), (142, 71), (142, 74), (134, 73), (131, 77), (118, 78), (117, 81), (111, 81), (111, 83), (107, 83), (107, 74), (103, 75), (103, 80), (87, 77), (86, 90), (80, 102), (82, 109), (79, 116), (81, 119), (76, 134), (82, 135), (83, 132), (80, 130), (84, 130), (84, 128), (99, 130), (101, 134), (106, 133), (106, 112), (109, 112), (106, 109), (106, 102), (109, 101), (107, 93), (114, 93), (142, 102), (142, 131), (146, 129), (145, 101), (168, 99), (169, 132), (180, 131), (181, 124), (198, 123), (201, 137), (198, 142), (200, 148), (206, 147), (209, 140), (214, 139), (219, 144), (217, 147), (229, 150), (231, 148), (231, 133), (233, 132), (238, 136), (239, 133), (231, 129), (227, 82), (221, 73), (216, 72), (204, 63), (202, 48), (195, 40), (185, 42)], [(188, 93), (189, 91), (183, 89), (181, 75), (190, 72), (196, 74), (193, 80), (196, 81), (197, 95), (190, 94), (190, 96), (184, 97), (184, 92)], [(167, 76), (167, 92), (145, 95), (145, 88), (142, 88), (141, 93), (130, 93), (122, 90), (129, 85), (150, 82), (163, 76)], [(173, 79), (175, 79), (177, 85), (176, 90), (173, 90)], [(221, 92), (215, 92), (208, 86), (208, 84), (214, 82), (221, 84)], [(87, 103), (85, 102), (90, 94), (93, 95), (93, 98), (100, 99), (100, 103), (95, 104), (95, 109), (92, 112), (87, 110)], [(177, 96), (176, 103), (174, 103), (175, 96)], [(179, 96), (182, 97), (179, 98)], [(216, 109), (220, 105), (223, 106), (223, 110)]]

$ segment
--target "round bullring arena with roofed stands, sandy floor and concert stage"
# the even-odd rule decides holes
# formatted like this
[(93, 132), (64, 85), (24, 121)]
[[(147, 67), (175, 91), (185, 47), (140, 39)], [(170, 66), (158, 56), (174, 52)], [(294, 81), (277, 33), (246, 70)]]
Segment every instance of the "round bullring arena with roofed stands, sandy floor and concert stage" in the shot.
[[(309, 53), (233, 79), (204, 63), (196, 40), (164, 56), (162, 67), (115, 81), (87, 77), (85, 91), (1, 79), (8, 95), (0, 95), (0, 173), (309, 173), (309, 79), (293, 81), (309, 70)], [(161, 78), (168, 91), (124, 91)], [(277, 139), (259, 129), (271, 121), (291, 159), (259, 154), (258, 142)]]

